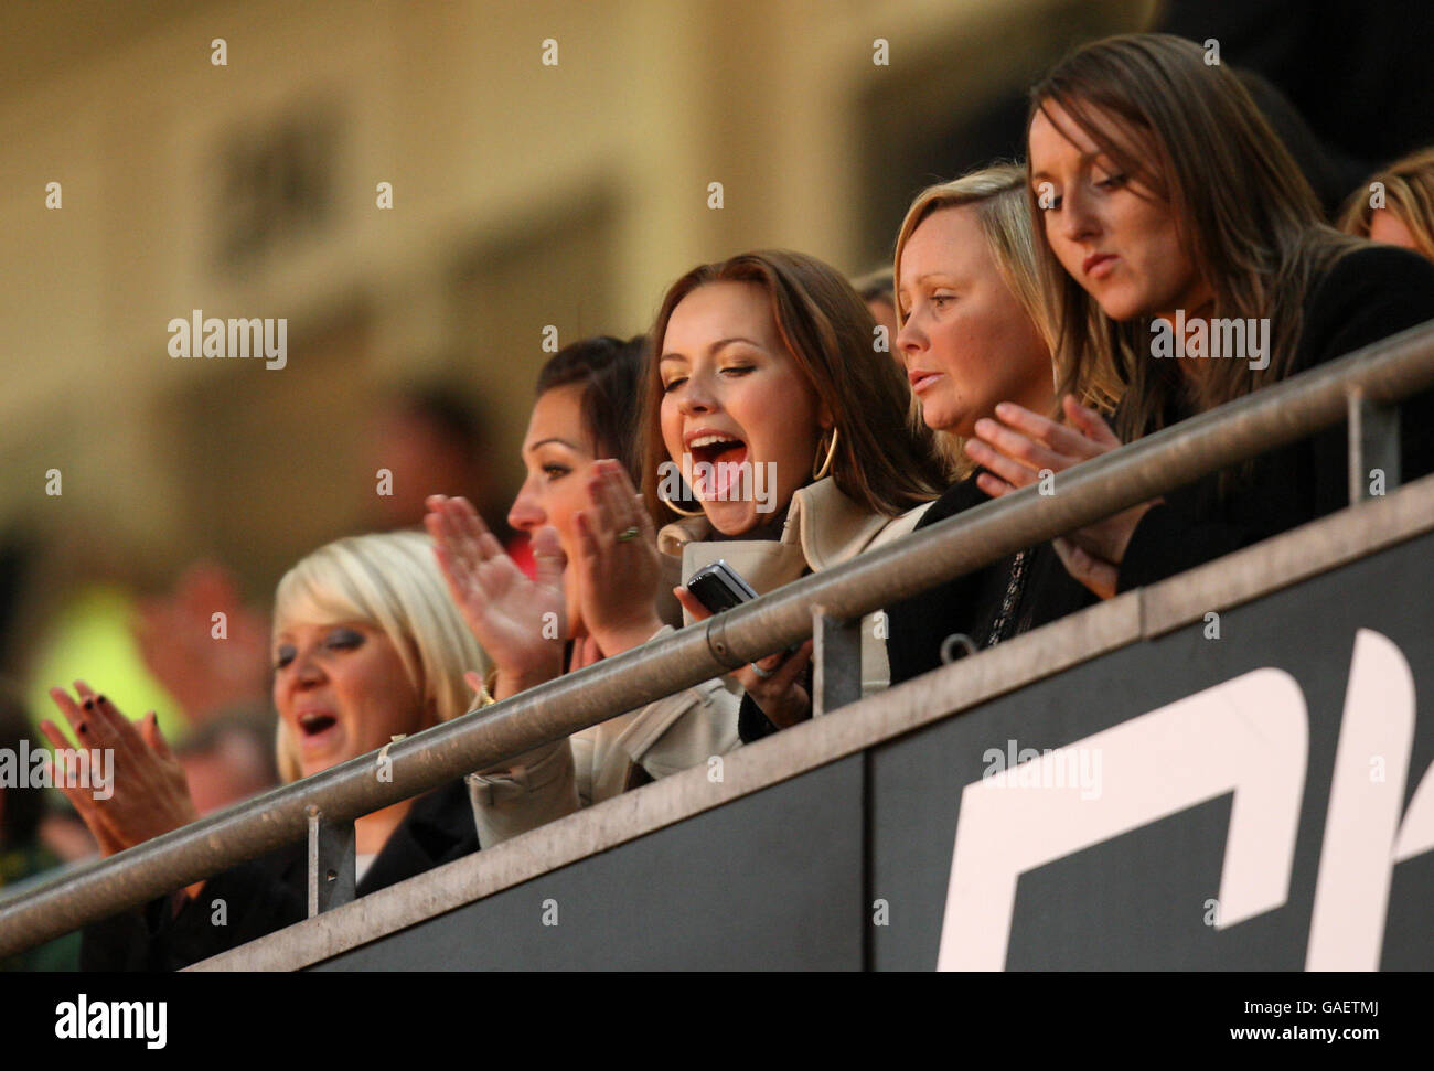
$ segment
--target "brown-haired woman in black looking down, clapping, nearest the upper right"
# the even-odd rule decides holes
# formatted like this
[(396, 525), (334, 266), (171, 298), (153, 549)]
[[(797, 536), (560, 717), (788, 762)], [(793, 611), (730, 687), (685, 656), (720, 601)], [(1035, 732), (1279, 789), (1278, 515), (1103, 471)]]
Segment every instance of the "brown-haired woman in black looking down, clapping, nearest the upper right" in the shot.
[[(1129, 34), (1073, 53), (1031, 90), (1028, 148), (1068, 423), (1014, 406), (977, 427), (967, 450), (988, 495), (1041, 469), (1058, 493), (1071, 465), (1434, 318), (1434, 265), (1321, 224), (1239, 80), (1192, 42)], [(1114, 427), (1070, 397), (1103, 363), (1126, 381)], [(1415, 479), (1434, 467), (1434, 393), (1401, 413)], [(1159, 581), (1348, 505), (1345, 450), (1344, 429), (1273, 450), (1057, 551), (1101, 596)]]

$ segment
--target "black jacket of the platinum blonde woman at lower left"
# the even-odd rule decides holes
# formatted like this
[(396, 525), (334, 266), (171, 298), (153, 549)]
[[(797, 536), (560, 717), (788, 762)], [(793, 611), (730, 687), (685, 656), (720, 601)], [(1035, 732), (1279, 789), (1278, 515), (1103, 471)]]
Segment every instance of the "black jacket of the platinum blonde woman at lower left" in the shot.
[[(360, 896), (478, 850), (463, 781), (413, 801), (358, 882)], [(178, 971), (308, 918), (308, 849), (303, 842), (241, 863), (205, 882), (199, 899), (174, 913), (171, 898), (85, 929), (83, 971)], [(225, 925), (217, 900), (224, 902)]]

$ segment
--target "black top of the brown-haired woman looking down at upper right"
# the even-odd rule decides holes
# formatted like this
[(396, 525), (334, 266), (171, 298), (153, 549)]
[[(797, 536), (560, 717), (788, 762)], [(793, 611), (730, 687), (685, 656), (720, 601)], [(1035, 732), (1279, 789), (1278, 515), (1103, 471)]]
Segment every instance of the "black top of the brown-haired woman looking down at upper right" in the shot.
[[(1309, 288), (1291, 374), (1434, 320), (1434, 264), (1405, 249), (1371, 245), (1341, 257)], [(1189, 416), (1189, 414), (1182, 414)], [(1434, 470), (1434, 391), (1401, 406), (1402, 480)], [(1349, 505), (1348, 430), (1262, 454), (1164, 496), (1140, 519), (1120, 565), (1119, 589), (1154, 584), (1242, 546)]]

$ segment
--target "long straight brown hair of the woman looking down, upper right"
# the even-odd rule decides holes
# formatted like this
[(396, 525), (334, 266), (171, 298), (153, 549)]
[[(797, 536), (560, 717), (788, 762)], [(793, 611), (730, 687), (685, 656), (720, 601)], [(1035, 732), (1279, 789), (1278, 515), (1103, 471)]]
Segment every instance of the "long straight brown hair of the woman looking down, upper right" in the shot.
[(1028, 188), (1055, 298), (1061, 393), (1108, 361), (1127, 383), (1116, 429), (1127, 442), (1157, 430), (1172, 409), (1203, 411), (1288, 376), (1311, 282), (1358, 245), (1322, 222), (1314, 191), (1239, 77), (1205, 56), (1182, 37), (1121, 34), (1077, 49), (1031, 87), (1028, 142), (1038, 113), (1061, 130), (1047, 110), (1060, 105), (1117, 168), (1170, 205), (1215, 295), (1212, 318), (1271, 323), (1269, 366), (1259, 371), (1219, 360), (1186, 377), (1177, 361), (1152, 360), (1149, 320), (1111, 320), (1061, 268)]

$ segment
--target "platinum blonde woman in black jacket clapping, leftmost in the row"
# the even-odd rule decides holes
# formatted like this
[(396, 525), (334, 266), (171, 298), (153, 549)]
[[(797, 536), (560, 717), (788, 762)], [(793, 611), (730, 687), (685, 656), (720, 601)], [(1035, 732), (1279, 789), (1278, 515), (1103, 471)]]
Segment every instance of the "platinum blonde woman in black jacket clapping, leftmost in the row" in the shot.
[[(470, 705), (465, 674), (479, 649), (417, 532), (330, 543), (288, 571), (274, 606), (274, 705), (284, 780), (308, 777), (457, 717)], [(76, 738), (116, 754), (113, 794), (66, 794), (113, 855), (195, 819), (184, 773), (153, 714), (132, 724), (76, 681), (50, 695)], [(67, 747), (52, 723), (43, 731)], [(383, 889), (478, 849), (462, 781), (354, 822), (357, 892)], [(86, 969), (179, 969), (307, 915), (305, 847), (294, 844), (116, 916), (85, 933)], [(214, 905), (225, 925), (212, 925)]]

